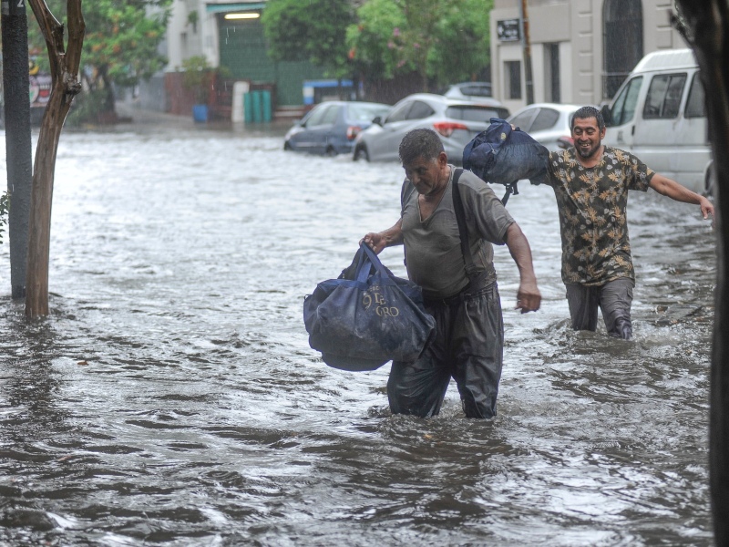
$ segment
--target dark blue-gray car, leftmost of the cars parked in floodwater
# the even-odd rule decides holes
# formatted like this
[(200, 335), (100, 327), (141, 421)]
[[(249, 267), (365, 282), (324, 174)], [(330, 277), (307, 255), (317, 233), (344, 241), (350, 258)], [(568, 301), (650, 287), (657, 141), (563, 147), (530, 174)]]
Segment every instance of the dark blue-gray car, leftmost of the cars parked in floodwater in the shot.
[(289, 129), (283, 138), (283, 150), (329, 156), (351, 153), (357, 134), (389, 110), (389, 105), (381, 103), (323, 102)]

